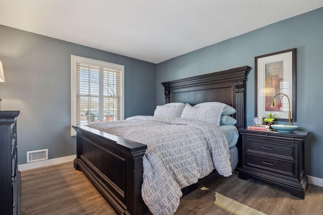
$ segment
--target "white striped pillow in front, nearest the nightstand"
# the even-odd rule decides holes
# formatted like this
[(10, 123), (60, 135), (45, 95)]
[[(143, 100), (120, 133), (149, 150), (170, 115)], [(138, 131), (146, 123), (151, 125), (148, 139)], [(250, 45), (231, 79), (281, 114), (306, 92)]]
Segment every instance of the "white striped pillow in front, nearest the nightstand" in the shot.
[(203, 107), (192, 107), (189, 104), (185, 105), (181, 118), (201, 120), (204, 122), (220, 125), (221, 113), (224, 104), (208, 105)]

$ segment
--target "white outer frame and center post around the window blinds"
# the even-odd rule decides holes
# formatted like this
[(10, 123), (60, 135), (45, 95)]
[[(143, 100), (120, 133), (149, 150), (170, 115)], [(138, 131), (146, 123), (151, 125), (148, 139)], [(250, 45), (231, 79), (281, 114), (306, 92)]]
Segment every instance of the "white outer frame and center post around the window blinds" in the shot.
[[(83, 63), (83, 64), (88, 64), (88, 65), (95, 65), (99, 67), (99, 76), (100, 79), (103, 77), (103, 69), (104, 68), (109, 68), (109, 69), (116, 69), (121, 71), (121, 91), (122, 91), (122, 98), (120, 100), (121, 102), (121, 119), (124, 119), (124, 104), (125, 104), (125, 82), (124, 82), (124, 74), (125, 74), (125, 66), (124, 65), (119, 65), (115, 63), (110, 63), (110, 62), (105, 62), (105, 61), (100, 61), (100, 60), (95, 60), (95, 59), (90, 59), (86, 57), (80, 57), (76, 55), (71, 55), (71, 136), (76, 136), (76, 131), (72, 127), (72, 125), (77, 125), (77, 68), (76, 65), (77, 63)], [(99, 82), (99, 90), (103, 91), (103, 80)], [(100, 93), (101, 95), (99, 96), (99, 103), (103, 102), (103, 94)], [(101, 100), (101, 101), (100, 101)], [(99, 113), (101, 116), (103, 114)]]

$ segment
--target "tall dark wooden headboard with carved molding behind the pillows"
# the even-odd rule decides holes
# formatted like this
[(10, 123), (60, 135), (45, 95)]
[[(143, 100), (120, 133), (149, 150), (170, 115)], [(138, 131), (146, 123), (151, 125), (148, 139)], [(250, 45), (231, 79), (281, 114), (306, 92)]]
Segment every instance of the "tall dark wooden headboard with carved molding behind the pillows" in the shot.
[(166, 103), (222, 102), (236, 109), (237, 128), (246, 127), (246, 81), (249, 66), (161, 83)]

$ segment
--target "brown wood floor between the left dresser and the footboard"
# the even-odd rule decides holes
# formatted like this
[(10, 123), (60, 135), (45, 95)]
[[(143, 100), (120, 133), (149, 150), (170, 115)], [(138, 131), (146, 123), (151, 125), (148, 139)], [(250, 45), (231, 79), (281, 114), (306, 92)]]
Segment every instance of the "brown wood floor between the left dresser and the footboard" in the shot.
[(21, 175), (22, 214), (116, 214), (86, 176), (73, 168), (73, 162)]

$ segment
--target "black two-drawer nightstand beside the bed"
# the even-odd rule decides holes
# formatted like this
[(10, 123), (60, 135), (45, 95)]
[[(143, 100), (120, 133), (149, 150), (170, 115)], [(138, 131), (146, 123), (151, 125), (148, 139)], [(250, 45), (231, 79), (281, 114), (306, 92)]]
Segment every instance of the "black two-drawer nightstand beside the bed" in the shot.
[(308, 131), (281, 133), (276, 130), (239, 129), (242, 168), (239, 178), (259, 179), (304, 198), (308, 178), (304, 173), (304, 143)]

